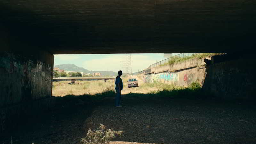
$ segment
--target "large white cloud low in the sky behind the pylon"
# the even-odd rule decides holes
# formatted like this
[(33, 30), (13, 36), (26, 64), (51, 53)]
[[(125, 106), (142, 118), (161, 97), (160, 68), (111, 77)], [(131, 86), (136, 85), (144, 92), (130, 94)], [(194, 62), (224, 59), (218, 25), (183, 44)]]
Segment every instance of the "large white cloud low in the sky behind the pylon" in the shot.
[[(106, 56), (102, 59), (92, 59), (83, 62), (83, 67), (92, 71), (114, 71), (123, 70), (121, 61), (125, 61), (125, 54), (115, 54), (114, 56)], [(148, 68), (151, 64), (155, 63), (156, 60), (152, 59), (150, 56), (145, 55), (133, 55), (132, 54), (132, 72), (141, 71), (145, 68)], [(125, 69), (123, 72), (126, 72)]]

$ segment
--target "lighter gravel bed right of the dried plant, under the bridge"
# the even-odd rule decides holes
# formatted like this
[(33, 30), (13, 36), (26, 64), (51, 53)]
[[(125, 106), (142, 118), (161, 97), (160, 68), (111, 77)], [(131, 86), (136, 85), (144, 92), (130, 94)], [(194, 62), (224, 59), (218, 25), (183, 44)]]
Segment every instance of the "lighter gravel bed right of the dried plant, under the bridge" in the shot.
[[(256, 143), (255, 107), (200, 100), (124, 98), (96, 107), (84, 128), (125, 131), (118, 141), (143, 143)], [(113, 103), (113, 102), (112, 102)]]

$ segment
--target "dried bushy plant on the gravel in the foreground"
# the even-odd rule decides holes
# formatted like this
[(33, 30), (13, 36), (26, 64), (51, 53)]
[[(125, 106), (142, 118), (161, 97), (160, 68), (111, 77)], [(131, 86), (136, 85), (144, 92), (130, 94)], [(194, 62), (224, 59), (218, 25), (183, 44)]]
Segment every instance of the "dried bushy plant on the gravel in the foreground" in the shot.
[(106, 128), (105, 125), (100, 124), (99, 130), (92, 131), (88, 130), (86, 137), (82, 138), (81, 143), (83, 144), (108, 144), (116, 136), (123, 136), (124, 131), (114, 131), (113, 129)]

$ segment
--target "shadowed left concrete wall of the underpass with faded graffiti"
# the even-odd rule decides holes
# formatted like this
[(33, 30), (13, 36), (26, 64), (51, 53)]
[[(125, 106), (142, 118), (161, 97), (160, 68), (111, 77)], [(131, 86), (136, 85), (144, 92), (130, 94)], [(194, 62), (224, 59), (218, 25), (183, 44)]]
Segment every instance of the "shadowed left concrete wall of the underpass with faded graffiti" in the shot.
[[(0, 25), (1, 26), (1, 25)], [(19, 47), (19, 52), (14, 52)], [(23, 51), (29, 47), (30, 51)], [(54, 56), (0, 27), (0, 132), (53, 105)]]

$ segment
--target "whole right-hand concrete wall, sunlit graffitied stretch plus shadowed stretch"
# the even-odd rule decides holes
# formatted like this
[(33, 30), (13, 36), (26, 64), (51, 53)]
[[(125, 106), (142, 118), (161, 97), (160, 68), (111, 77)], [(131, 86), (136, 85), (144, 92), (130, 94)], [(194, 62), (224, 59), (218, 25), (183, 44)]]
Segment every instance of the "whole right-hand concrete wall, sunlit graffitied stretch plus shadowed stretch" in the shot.
[[(144, 82), (161, 82), (188, 86), (201, 84), (203, 90), (224, 99), (255, 99), (256, 60), (252, 56), (217, 55), (206, 66), (204, 58), (191, 59), (167, 66), (156, 67), (144, 75)], [(165, 69), (165, 71), (163, 71)], [(157, 71), (160, 71), (157, 73)], [(161, 72), (163, 71), (163, 72)]]

